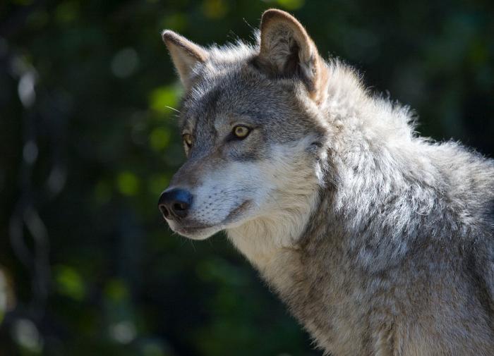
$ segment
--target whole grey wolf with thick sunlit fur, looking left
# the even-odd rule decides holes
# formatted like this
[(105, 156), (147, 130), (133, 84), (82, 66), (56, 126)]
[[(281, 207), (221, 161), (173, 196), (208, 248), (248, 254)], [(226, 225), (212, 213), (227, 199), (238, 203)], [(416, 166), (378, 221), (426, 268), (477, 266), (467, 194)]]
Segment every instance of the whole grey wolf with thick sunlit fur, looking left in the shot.
[(325, 355), (494, 355), (494, 161), (263, 13), (254, 44), (165, 30), (187, 160), (170, 228), (226, 231)]

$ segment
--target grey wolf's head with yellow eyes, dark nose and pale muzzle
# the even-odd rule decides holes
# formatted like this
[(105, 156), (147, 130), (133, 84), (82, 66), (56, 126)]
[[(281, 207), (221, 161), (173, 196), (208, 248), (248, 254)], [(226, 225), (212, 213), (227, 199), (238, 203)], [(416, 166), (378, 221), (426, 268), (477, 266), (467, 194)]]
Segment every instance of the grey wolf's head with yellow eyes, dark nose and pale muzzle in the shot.
[(186, 89), (188, 159), (159, 199), (171, 229), (194, 239), (253, 221), (296, 229), (325, 161), (327, 66), (306, 30), (269, 10), (255, 46), (205, 49), (169, 30), (162, 36)]

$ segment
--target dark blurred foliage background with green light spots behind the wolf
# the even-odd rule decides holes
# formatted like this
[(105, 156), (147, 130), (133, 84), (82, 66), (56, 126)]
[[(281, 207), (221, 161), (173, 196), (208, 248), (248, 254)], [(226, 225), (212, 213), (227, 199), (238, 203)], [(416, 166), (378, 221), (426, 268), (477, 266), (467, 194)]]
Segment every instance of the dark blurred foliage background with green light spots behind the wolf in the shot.
[(224, 235), (171, 235), (183, 161), (160, 31), (251, 39), (284, 8), (325, 56), (494, 152), (493, 1), (0, 2), (0, 355), (320, 355)]

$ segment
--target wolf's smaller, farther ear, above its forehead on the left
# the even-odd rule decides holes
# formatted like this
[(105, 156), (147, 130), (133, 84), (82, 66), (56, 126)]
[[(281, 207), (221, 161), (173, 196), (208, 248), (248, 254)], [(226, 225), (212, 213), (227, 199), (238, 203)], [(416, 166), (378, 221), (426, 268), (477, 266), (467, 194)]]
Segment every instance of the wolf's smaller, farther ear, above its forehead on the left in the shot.
[(188, 88), (191, 85), (192, 69), (197, 63), (207, 59), (206, 49), (171, 30), (164, 30), (162, 38), (168, 47), (177, 72), (179, 72), (180, 80)]

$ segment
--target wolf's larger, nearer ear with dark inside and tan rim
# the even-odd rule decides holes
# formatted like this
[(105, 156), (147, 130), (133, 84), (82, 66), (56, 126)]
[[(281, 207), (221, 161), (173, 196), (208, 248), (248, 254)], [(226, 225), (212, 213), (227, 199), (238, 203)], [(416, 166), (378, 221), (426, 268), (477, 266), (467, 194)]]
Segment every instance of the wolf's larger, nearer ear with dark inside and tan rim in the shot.
[(258, 64), (273, 75), (298, 76), (312, 94), (325, 80), (324, 61), (306, 29), (289, 13), (275, 8), (265, 11), (260, 22)]

